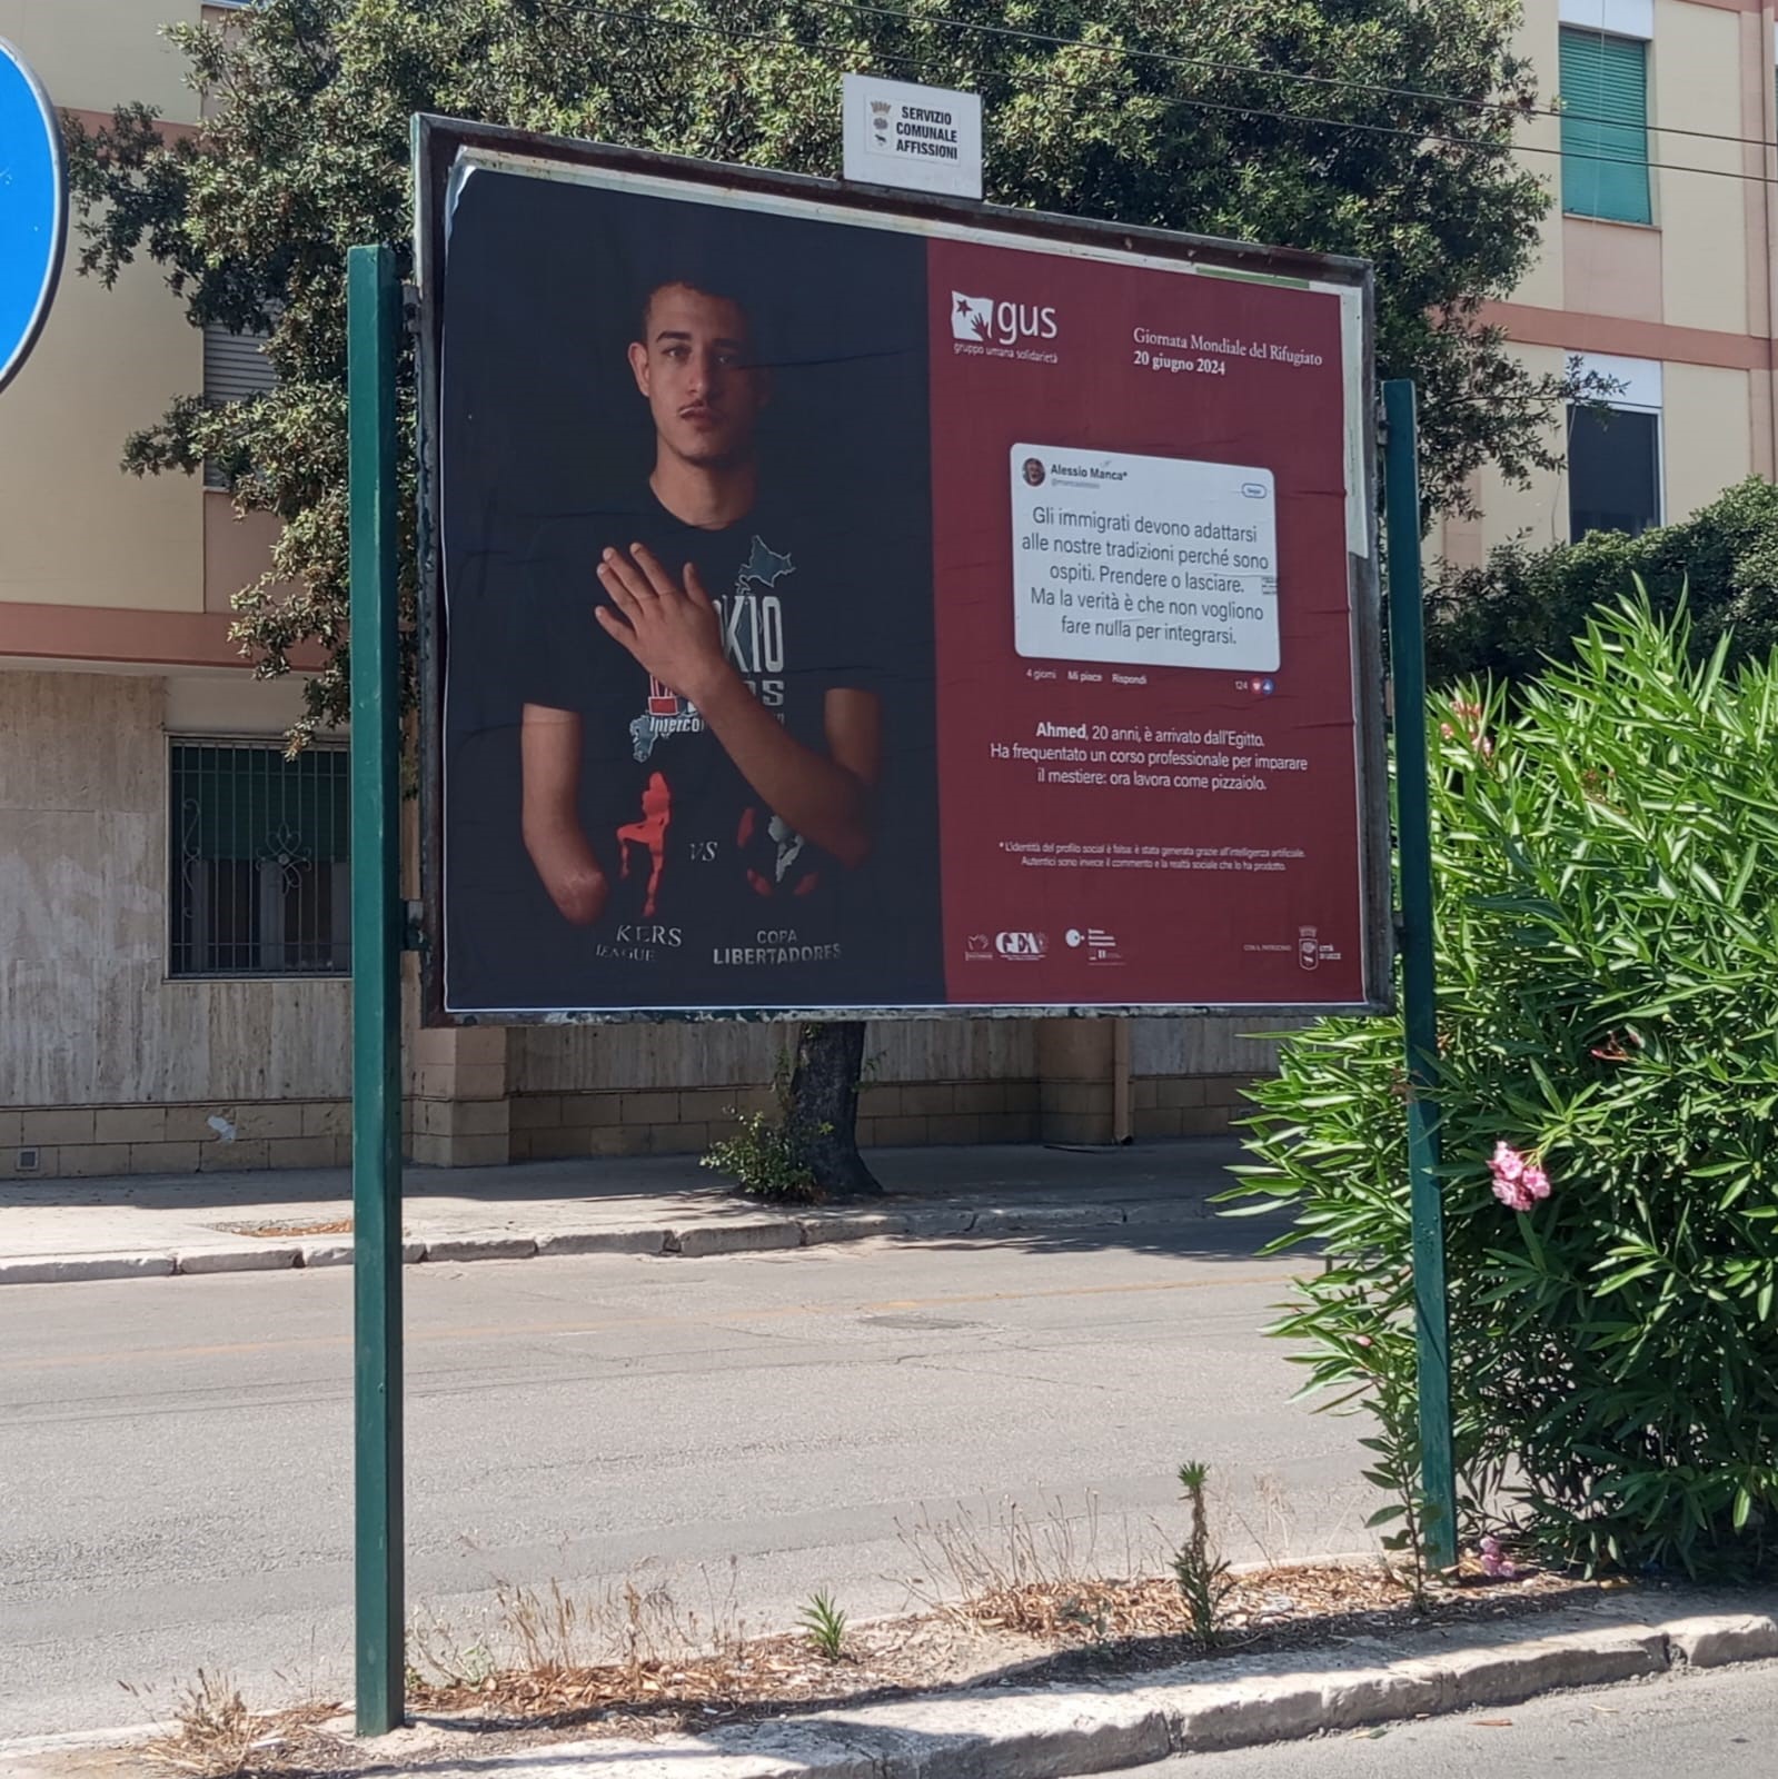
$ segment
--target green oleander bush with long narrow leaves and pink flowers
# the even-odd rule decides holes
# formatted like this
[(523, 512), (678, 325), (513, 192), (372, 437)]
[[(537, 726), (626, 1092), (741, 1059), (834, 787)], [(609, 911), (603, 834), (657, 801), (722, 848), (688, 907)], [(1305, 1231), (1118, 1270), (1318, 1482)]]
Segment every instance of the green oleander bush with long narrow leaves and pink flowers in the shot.
[[(1440, 1128), (1467, 1539), (1589, 1569), (1778, 1550), (1778, 669), (1634, 600), (1433, 701)], [(1253, 1092), (1237, 1210), (1321, 1245), (1276, 1332), (1413, 1521), (1401, 1019)]]

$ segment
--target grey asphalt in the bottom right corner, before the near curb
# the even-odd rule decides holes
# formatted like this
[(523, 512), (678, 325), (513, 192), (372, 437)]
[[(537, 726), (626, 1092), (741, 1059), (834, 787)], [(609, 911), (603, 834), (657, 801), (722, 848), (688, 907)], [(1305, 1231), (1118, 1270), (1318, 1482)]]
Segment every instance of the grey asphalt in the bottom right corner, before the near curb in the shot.
[(1774, 1720), (1778, 1662), (1760, 1662), (1137, 1770), (1143, 1779), (1771, 1779)]

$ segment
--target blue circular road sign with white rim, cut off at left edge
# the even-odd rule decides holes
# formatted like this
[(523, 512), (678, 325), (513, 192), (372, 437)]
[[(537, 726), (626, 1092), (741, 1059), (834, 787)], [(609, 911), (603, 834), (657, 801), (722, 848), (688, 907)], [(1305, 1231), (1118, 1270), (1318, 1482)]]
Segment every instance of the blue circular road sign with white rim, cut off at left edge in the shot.
[(0, 390), (37, 343), (66, 240), (62, 125), (25, 59), (0, 37)]

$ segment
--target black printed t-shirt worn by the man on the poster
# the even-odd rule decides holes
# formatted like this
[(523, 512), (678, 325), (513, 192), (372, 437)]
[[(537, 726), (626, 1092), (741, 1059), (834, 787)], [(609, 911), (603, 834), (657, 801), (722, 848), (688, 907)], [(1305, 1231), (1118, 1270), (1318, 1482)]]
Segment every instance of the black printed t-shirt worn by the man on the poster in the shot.
[(820, 754), (828, 692), (879, 690), (881, 589), (819, 516), (762, 502), (705, 530), (644, 489), (537, 527), (513, 632), (523, 703), (580, 717), (580, 820), (610, 882), (591, 938), (614, 1000), (819, 1002), (858, 943), (845, 932), (849, 873), (765, 806), (698, 710), (593, 616), (610, 603), (600, 555), (635, 543), (675, 575), (696, 566), (730, 664)]

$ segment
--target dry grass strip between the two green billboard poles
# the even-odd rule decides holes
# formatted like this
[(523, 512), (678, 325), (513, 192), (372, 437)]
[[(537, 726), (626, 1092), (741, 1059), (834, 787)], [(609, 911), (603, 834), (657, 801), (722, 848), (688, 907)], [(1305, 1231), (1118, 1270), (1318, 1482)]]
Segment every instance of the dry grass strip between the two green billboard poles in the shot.
[(806, 1631), (748, 1635), (699, 1621), (664, 1587), (626, 1587), (591, 1606), (554, 1585), (507, 1589), (505, 1653), (472, 1646), (443, 1654), (434, 1644), (409, 1699), (420, 1711), (475, 1713), (502, 1729), (660, 1735), (938, 1688), (1312, 1649), (1354, 1635), (1538, 1614), (1598, 1592), (1541, 1573), (1509, 1583), (1477, 1574), (1417, 1601), (1381, 1560), (1264, 1566), (1230, 1574), (1217, 1635), (1205, 1644), (1171, 1578), (1020, 1574), (942, 1606), (849, 1624), (838, 1660)]

